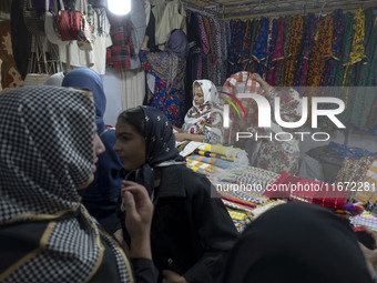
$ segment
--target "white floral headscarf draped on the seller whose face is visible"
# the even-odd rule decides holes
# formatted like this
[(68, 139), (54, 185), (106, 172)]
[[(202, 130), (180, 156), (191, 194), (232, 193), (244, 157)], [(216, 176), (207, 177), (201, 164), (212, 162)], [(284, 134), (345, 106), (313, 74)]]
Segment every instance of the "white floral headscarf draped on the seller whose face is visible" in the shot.
[(218, 105), (216, 87), (212, 81), (197, 80), (194, 81), (193, 89), (195, 83), (201, 85), (204, 94), (204, 103), (197, 105), (193, 101), (193, 107), (184, 118), (183, 131), (193, 134), (203, 134), (204, 131), (208, 131), (222, 137), (221, 130), (213, 127), (222, 124), (222, 110)]

